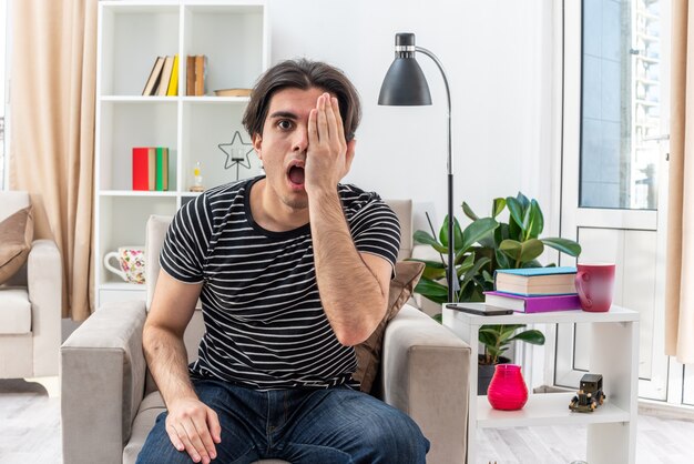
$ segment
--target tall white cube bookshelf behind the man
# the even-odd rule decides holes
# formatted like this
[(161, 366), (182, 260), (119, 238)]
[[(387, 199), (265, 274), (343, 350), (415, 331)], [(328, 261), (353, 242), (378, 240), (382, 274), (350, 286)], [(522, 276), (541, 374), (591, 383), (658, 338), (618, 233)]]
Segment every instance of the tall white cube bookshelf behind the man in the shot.
[[(142, 97), (156, 57), (178, 54), (178, 95)], [(206, 94), (187, 97), (186, 56), (205, 54)], [(102, 1), (99, 3), (95, 137), (96, 305), (144, 299), (103, 266), (103, 256), (124, 245), (144, 245), (151, 214), (173, 215), (197, 193), (188, 191), (202, 165), (206, 189), (236, 180), (225, 169), (220, 143), (235, 131), (251, 140), (241, 119), (248, 98), (213, 91), (252, 88), (269, 63), (265, 0)], [(132, 148), (169, 148), (169, 191), (132, 190)], [(257, 159), (239, 178), (261, 173)]]

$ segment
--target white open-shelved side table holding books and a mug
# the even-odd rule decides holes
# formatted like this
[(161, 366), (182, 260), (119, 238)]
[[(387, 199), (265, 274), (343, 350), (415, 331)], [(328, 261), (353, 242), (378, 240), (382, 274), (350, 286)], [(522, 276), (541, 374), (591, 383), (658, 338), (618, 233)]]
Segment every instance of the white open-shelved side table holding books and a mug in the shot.
[[(483, 303), (479, 303), (482, 305)], [(634, 463), (636, 448), (639, 313), (613, 305), (606, 313), (558, 311), (482, 316), (449, 310), (443, 305), (443, 325), (479, 354), (478, 334), (484, 324), (591, 324), (589, 371), (602, 374), (605, 403), (592, 413), (569, 410), (574, 393), (532, 394), (520, 411), (493, 410), (487, 396), (477, 394), (477, 369), (470, 369), (470, 413), (468, 422), (468, 463), (477, 458), (477, 430), (532, 425), (588, 426), (586, 461), (591, 464)]]

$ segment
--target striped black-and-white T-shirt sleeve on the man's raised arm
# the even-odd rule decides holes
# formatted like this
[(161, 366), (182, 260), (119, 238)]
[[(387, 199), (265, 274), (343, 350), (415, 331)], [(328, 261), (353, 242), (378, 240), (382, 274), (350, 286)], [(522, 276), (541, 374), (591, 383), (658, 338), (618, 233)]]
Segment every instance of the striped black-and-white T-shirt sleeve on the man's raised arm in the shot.
[(390, 206), (377, 196), (355, 214), (349, 226), (359, 252), (381, 256), (395, 268), (400, 249), (400, 223)]

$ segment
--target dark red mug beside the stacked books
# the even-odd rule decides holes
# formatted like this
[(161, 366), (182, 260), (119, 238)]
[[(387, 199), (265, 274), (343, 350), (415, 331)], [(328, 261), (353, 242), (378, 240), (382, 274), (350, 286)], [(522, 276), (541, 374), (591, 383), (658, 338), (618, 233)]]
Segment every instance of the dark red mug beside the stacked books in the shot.
[(614, 264), (579, 264), (575, 275), (575, 289), (579, 292), (581, 307), (592, 313), (604, 313), (612, 305), (614, 286)]

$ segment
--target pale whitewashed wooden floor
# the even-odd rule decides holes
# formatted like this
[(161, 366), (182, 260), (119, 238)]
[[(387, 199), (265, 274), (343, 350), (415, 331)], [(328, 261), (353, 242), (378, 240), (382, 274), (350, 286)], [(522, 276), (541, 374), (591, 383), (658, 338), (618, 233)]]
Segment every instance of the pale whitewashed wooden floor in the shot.
[[(489, 458), (498, 464), (568, 464), (585, 455), (585, 427), (483, 430), (479, 435), (479, 455), (487, 456), (481, 464)], [(0, 380), (0, 464), (62, 463), (60, 450), (60, 399), (49, 399), (38, 384)], [(636, 462), (694, 463), (694, 422), (641, 415)]]

